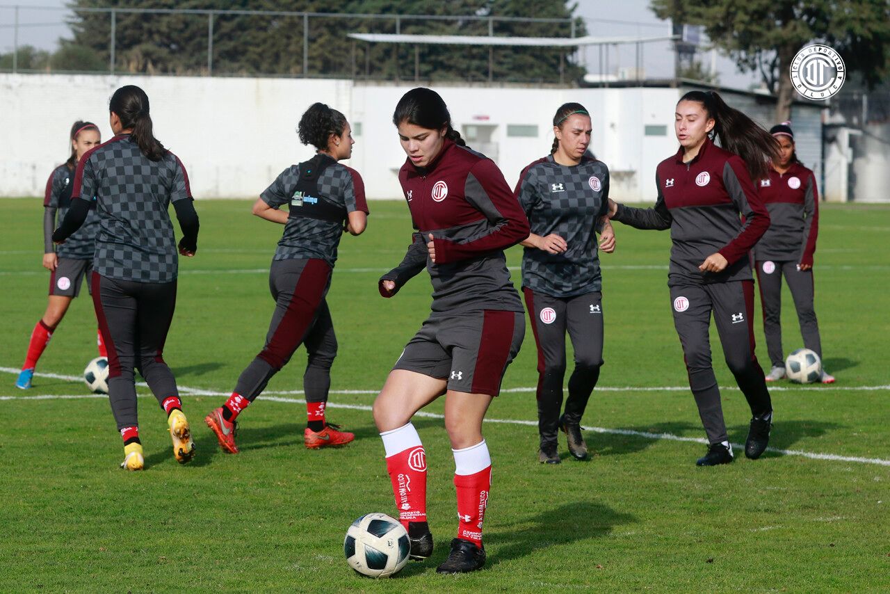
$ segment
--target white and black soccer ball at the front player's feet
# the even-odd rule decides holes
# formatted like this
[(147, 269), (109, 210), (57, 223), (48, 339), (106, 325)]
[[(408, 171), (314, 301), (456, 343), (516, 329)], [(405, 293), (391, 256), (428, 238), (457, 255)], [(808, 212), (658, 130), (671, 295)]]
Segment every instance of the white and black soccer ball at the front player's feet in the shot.
[(386, 514), (362, 516), (346, 531), (346, 563), (368, 577), (390, 577), (408, 563), (411, 543), (399, 520)]

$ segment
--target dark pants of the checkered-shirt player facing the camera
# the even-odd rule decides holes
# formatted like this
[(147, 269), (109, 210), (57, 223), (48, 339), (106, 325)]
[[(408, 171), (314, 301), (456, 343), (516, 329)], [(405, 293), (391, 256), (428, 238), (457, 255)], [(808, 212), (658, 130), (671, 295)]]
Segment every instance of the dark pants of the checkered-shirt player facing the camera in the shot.
[(522, 289), (531, 330), (538, 346), (538, 434), (541, 443), (556, 443), (565, 378), (565, 333), (575, 350), (575, 370), (565, 401), (567, 423), (580, 423), (603, 365), (603, 294), (552, 297)]

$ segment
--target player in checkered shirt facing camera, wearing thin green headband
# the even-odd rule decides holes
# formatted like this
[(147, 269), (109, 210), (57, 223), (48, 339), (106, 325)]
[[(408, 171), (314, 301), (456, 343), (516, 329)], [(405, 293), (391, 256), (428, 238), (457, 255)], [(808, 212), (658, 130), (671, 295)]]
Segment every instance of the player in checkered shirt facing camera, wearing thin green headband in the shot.
[[(538, 346), (538, 460), (559, 464), (556, 432), (562, 428), (569, 452), (587, 458), (581, 417), (603, 365), (603, 293), (595, 230), (601, 248), (615, 249), (604, 218), (609, 210), (609, 168), (587, 157), (590, 115), (565, 103), (554, 115), (550, 155), (522, 170), (516, 196), (529, 217), (522, 241), (522, 293)], [(562, 411), (565, 332), (575, 348), (575, 370)]]

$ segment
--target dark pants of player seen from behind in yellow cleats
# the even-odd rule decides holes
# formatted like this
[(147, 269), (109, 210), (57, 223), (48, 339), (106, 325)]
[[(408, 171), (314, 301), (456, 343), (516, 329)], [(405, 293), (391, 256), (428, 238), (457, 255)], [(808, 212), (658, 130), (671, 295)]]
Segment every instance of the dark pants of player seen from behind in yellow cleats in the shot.
[(164, 362), (164, 343), (176, 306), (176, 281), (118, 281), (93, 271), (93, 305), (109, 353), (109, 401), (117, 429), (138, 427), (134, 369), (163, 403), (178, 396)]

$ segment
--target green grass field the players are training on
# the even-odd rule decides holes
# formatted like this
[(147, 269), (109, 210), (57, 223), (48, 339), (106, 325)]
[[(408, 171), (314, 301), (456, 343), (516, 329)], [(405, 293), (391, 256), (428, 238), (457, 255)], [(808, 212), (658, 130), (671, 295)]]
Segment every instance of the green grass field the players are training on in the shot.
[[(86, 397), (72, 378), (95, 356), (85, 295), (53, 336), (33, 389), (12, 386), (48, 280), (41, 200), (0, 200), (0, 590), (890, 589), (890, 207), (822, 207), (816, 311), (837, 384), (775, 387), (775, 451), (757, 461), (737, 452), (720, 468), (694, 466), (705, 446), (692, 442), (703, 430), (671, 321), (668, 234), (616, 224), (618, 250), (603, 256), (606, 365), (584, 418), (601, 428), (586, 433), (592, 460), (566, 459), (562, 442), (561, 465), (538, 464), (528, 331), (504, 381), (514, 391), (493, 403), (485, 427), (495, 466), (488, 565), (477, 574), (434, 572), (456, 509), (448, 438), (434, 416), (442, 407), (433, 403), (433, 415), (415, 424), (428, 452), (436, 549), (428, 562), (374, 582), (346, 566), (342, 543), (355, 517), (395, 513), (369, 405), (429, 311), (425, 274), (394, 299), (376, 292), (376, 279), (408, 244), (407, 209), (371, 204), (368, 232), (344, 237), (328, 294), (340, 343), (332, 388), (360, 391), (332, 395), (328, 419), (356, 441), (337, 451), (303, 448), (301, 350), (272, 379), (269, 396), (240, 417), (242, 453), (230, 456), (201, 419), (262, 346), (280, 227), (250, 216), (244, 200), (196, 206), (198, 256), (181, 264), (165, 354), (198, 456), (176, 464), (164, 415), (142, 387), (147, 468), (125, 473), (107, 401)], [(509, 257), (518, 266), (520, 249)], [(790, 351), (801, 345), (787, 289), (783, 304)], [(759, 313), (757, 320), (757, 353), (768, 365)], [(717, 378), (733, 386), (716, 336), (712, 344)], [(724, 413), (732, 442), (743, 443), (749, 413), (738, 390), (724, 390)]]

